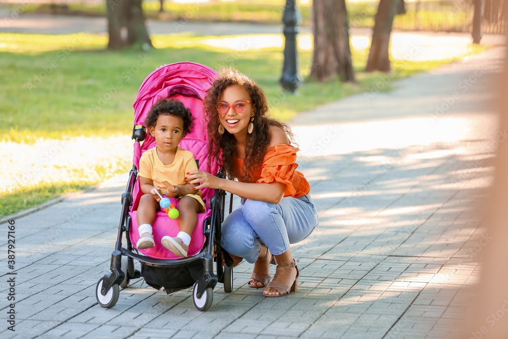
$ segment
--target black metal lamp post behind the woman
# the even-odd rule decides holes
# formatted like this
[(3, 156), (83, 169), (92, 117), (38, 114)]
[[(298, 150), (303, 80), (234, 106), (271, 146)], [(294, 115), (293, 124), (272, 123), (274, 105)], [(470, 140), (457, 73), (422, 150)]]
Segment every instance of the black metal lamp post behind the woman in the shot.
[(296, 36), (299, 32), (298, 25), (301, 21), (301, 15), (296, 6), (296, 0), (286, 0), (284, 16), (284, 67), (282, 68), (282, 77), (280, 84), (284, 90), (294, 93), (294, 91), (303, 81), (298, 73), (298, 52), (296, 45)]

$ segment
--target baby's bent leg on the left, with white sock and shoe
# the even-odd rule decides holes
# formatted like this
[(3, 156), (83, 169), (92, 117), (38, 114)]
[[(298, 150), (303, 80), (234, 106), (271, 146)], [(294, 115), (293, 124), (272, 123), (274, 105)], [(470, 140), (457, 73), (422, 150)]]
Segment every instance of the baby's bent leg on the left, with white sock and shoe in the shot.
[(158, 203), (151, 194), (144, 194), (138, 205), (136, 213), (138, 219), (139, 240), (136, 243), (138, 249), (149, 249), (155, 245), (153, 241), (152, 223), (155, 220)]

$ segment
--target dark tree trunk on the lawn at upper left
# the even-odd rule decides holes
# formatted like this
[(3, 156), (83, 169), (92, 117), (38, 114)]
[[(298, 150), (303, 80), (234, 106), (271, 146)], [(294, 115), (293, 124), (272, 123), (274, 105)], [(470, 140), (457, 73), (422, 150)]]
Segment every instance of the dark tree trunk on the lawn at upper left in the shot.
[(139, 45), (146, 50), (153, 47), (143, 16), (142, 0), (106, 0), (108, 18), (108, 48)]

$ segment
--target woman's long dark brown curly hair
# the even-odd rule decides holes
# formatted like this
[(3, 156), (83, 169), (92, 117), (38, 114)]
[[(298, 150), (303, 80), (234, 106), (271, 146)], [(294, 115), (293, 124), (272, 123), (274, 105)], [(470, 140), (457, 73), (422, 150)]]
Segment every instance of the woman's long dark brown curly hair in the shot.
[[(233, 68), (225, 68), (219, 71), (220, 78), (213, 82), (205, 97), (204, 109), (208, 119), (208, 142), (209, 142), (209, 164), (212, 159), (223, 166), (225, 173), (232, 179), (238, 177), (242, 181), (255, 181), (254, 173), (261, 168), (263, 159), (269, 150), (271, 135), (270, 126), (282, 129), (289, 137), (293, 138), (288, 125), (268, 117), (268, 103), (263, 90), (246, 75)], [(251, 134), (247, 134), (245, 144), (245, 159), (243, 161), (242, 173), (234, 173), (233, 151), (236, 146), (235, 137), (225, 130), (224, 134), (218, 133), (220, 125), (219, 115), (215, 105), (220, 99), (223, 91), (229, 86), (240, 86), (250, 96), (254, 120), (254, 128)], [(222, 150), (222, 157), (220, 151)]]

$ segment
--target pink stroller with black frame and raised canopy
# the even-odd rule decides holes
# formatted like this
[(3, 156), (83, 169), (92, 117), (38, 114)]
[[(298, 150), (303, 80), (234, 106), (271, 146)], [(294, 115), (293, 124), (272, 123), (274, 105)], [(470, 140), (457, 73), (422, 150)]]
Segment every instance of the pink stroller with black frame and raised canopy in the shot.
[[(131, 279), (141, 276), (149, 286), (155, 289), (164, 287), (168, 294), (194, 286), (194, 304), (200, 311), (210, 308), (213, 288), (217, 282), (224, 284), (226, 292), (232, 291), (233, 260), (220, 247), (220, 224), (224, 220), (226, 195), (223, 191), (202, 190), (206, 211), (198, 214), (187, 258), (176, 259), (161, 245), (164, 235), (176, 236), (179, 231), (177, 220), (170, 219), (165, 212), (157, 212), (152, 225), (155, 246), (146, 250), (135, 248), (139, 239), (136, 212), (143, 194), (137, 180), (139, 160), (144, 151), (156, 145), (155, 139), (146, 134), (144, 120), (154, 103), (161, 98), (172, 98), (190, 109), (196, 118), (194, 129), (180, 141), (179, 146), (194, 153), (201, 170), (224, 177), (216, 164), (208, 168), (206, 121), (203, 114), (203, 99), (216, 77), (217, 73), (209, 67), (195, 63), (176, 63), (156, 69), (141, 84), (134, 102), (134, 166), (122, 194), (122, 212), (115, 250), (111, 255), (111, 272), (106, 273), (96, 287), (97, 301), (103, 307), (113, 307), (118, 300), (119, 287), (126, 288)], [(136, 128), (137, 126), (141, 128)], [(177, 206), (175, 199), (172, 202)], [(124, 232), (126, 248), (122, 247)], [(141, 263), (141, 271), (134, 268), (134, 259)]]

